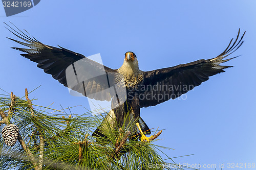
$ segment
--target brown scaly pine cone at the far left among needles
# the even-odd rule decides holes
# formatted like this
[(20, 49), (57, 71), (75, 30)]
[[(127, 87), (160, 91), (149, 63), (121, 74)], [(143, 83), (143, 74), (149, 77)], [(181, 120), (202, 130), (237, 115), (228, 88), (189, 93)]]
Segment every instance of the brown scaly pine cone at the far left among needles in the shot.
[(6, 125), (2, 130), (5, 143), (12, 147), (18, 139), (18, 127), (13, 124)]

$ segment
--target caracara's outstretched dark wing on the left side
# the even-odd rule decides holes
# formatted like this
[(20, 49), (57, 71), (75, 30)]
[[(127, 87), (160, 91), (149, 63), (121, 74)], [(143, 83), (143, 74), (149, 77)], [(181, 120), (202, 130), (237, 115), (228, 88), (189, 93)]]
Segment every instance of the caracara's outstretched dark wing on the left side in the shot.
[[(7, 29), (10, 32), (25, 42), (9, 39), (29, 47), (12, 48), (27, 53), (21, 55), (38, 63), (37, 67), (44, 69), (47, 74), (52, 75), (64, 86), (72, 88), (91, 99), (111, 101), (114, 94), (113, 91), (108, 89), (115, 80), (117, 74), (115, 69), (106, 67), (66, 48), (45, 45), (37, 41), (28, 32), (27, 35), (17, 27), (18, 31), (10, 26), (8, 27), (10, 29)], [(67, 78), (67, 76), (69, 77)]]

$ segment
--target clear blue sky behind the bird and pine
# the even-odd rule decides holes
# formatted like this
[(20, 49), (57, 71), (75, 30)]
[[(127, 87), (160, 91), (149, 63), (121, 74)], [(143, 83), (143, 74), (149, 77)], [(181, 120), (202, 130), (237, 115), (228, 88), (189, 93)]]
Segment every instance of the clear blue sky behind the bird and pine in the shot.
[[(68, 89), (12, 50), (14, 37), (4, 28), (13, 22), (42, 43), (63, 46), (90, 56), (100, 53), (103, 63), (119, 68), (124, 53), (133, 51), (141, 70), (175, 66), (223, 52), (238, 29), (245, 43), (229, 61), (233, 68), (210, 77), (186, 94), (142, 108), (150, 128), (166, 129), (155, 142), (177, 163), (256, 163), (256, 2), (255, 1), (41, 1), (34, 8), (6, 17), (0, 7), (0, 88), (24, 95), (35, 104), (60, 109), (82, 105), (86, 98), (71, 96)], [(1, 92), (4, 93), (4, 92)], [(82, 107), (72, 109), (83, 113)], [(165, 158), (163, 156), (163, 158)], [(170, 162), (170, 161), (169, 161)], [(212, 168), (201, 168), (212, 169)], [(228, 168), (224, 168), (228, 169)], [(241, 168), (233, 168), (241, 169)], [(246, 169), (246, 168), (243, 168)]]

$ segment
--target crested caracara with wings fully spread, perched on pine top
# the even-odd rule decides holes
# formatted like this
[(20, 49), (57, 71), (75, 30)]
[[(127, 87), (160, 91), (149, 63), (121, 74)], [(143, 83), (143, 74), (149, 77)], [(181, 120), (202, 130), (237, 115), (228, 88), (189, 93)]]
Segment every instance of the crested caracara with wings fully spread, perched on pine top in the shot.
[[(152, 71), (142, 71), (139, 69), (137, 57), (133, 52), (125, 53), (123, 65), (120, 68), (111, 69), (65, 48), (45, 45), (20, 30), (16, 31), (11, 27), (9, 30), (25, 42), (9, 39), (29, 47), (12, 48), (27, 53), (21, 55), (38, 63), (37, 67), (44, 69), (47, 74), (52, 75), (61, 84), (90, 99), (111, 101), (111, 110), (104, 118), (101, 127), (93, 133), (95, 136), (104, 136), (104, 121), (110, 122), (115, 127), (120, 127), (128, 126), (131, 119), (134, 120), (133, 134), (139, 133), (140, 129), (150, 134), (150, 129), (140, 117), (140, 108), (176, 99), (208, 80), (210, 76), (224, 72), (225, 68), (231, 66), (220, 64), (234, 58), (224, 59), (242, 45), (244, 36), (243, 34), (239, 40), (239, 29), (236, 40), (232, 43), (232, 39), (224, 52), (215, 58), (201, 59)], [(72, 76), (71, 71), (70, 80), (68, 80), (69, 72), (67, 72), (69, 68), (74, 72)], [(80, 81), (76, 81), (79, 72), (82, 72)], [(99, 72), (104, 72), (104, 75), (97, 74)], [(71, 82), (71, 85), (68, 81)], [(111, 89), (111, 87), (114, 88)], [(129, 121), (125, 117), (129, 117)], [(142, 140), (148, 140), (142, 132), (141, 134)]]

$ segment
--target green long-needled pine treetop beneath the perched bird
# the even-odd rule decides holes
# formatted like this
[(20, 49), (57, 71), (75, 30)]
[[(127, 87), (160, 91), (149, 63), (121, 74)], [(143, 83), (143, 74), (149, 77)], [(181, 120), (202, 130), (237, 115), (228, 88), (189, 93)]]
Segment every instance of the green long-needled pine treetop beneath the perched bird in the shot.
[(157, 153), (164, 147), (132, 140), (129, 129), (110, 125), (106, 137), (96, 139), (90, 134), (102, 116), (35, 106), (27, 89), (25, 99), (0, 97), (0, 115), (0, 169), (173, 169)]

